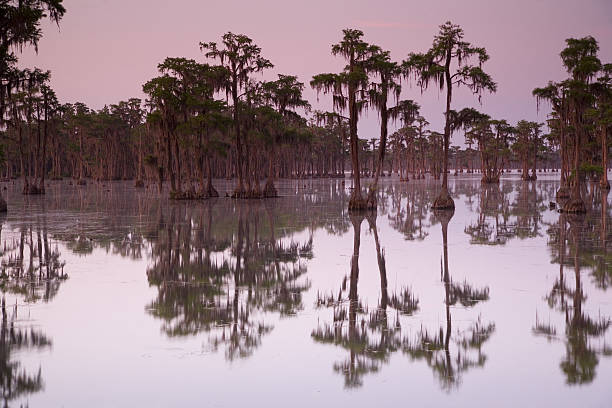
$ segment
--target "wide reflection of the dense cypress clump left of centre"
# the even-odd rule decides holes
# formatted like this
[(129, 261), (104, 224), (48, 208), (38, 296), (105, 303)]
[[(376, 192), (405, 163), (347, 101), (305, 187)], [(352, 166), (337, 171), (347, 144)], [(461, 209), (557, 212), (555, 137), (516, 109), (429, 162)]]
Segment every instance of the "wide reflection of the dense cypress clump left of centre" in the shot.
[(312, 238), (277, 236), (273, 206), (225, 210), (213, 216), (209, 202), (161, 213), (147, 269), (158, 294), (147, 310), (164, 322), (167, 336), (205, 332), (208, 348), (223, 347), (233, 360), (261, 344), (273, 329), (270, 314), (292, 316), (303, 308)]

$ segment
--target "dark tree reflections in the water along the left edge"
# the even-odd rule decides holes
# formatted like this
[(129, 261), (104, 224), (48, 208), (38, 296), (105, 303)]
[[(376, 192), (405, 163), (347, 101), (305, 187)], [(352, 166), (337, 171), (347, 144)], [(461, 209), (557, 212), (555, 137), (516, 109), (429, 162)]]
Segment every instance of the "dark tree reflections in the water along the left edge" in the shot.
[[(0, 234), (5, 218), (0, 219)], [(4, 231), (0, 238), (0, 394), (3, 406), (44, 388), (42, 369), (31, 372), (22, 367), (19, 356), (49, 349), (52, 341), (43, 331), (28, 326), (20, 316), (20, 306), (6, 304), (6, 296), (17, 296), (26, 303), (50, 302), (68, 278), (57, 245), (51, 243), (46, 220), (23, 224), (18, 230)]]

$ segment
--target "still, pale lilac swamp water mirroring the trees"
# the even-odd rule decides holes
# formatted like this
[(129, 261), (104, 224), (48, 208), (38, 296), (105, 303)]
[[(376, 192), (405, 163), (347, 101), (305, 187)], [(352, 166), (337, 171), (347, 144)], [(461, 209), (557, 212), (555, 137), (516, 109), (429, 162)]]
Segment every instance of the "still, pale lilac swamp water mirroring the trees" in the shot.
[(377, 216), (347, 213), (348, 180), (8, 185), (3, 404), (611, 407), (612, 195), (563, 216), (558, 180), (511, 177), (451, 178), (454, 214), (387, 179)]

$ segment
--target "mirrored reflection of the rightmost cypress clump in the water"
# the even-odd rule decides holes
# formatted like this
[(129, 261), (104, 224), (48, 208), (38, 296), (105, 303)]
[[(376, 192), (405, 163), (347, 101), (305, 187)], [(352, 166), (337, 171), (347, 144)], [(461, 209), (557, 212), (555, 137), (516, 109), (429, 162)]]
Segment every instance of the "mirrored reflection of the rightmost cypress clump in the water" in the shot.
[[(592, 186), (594, 187), (594, 186)], [(560, 368), (567, 384), (588, 384), (596, 376), (599, 356), (612, 356), (612, 348), (606, 344), (605, 334), (610, 327), (610, 318), (601, 312), (587, 312), (586, 287), (583, 269), (588, 269), (595, 287), (607, 290), (612, 272), (608, 261), (606, 242), (608, 240), (607, 191), (591, 190), (591, 205), (596, 205), (595, 195), (601, 195), (601, 211), (587, 215), (559, 215), (558, 222), (549, 230), (549, 247), (553, 262), (559, 264), (559, 277), (550, 292), (545, 296), (551, 310), (564, 317), (564, 329), (559, 331), (558, 324), (543, 321), (536, 316), (533, 332), (546, 336), (549, 340), (562, 340), (565, 343), (565, 356)], [(596, 208), (593, 208), (595, 210)], [(566, 276), (564, 268), (573, 268)], [(559, 338), (559, 333), (563, 338)]]

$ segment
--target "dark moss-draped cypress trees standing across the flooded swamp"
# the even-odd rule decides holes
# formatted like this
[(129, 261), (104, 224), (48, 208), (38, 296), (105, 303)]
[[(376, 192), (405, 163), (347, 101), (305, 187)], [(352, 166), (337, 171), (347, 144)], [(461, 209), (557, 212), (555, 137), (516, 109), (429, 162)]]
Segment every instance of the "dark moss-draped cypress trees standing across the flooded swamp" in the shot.
[[(591, 36), (565, 41), (565, 80), (533, 90), (538, 109), (551, 110), (545, 123), (510, 124), (453, 105), (457, 88), (469, 89), (480, 102), (497, 83), (485, 70), (487, 50), (468, 42), (450, 21), (429, 49), (402, 61), (367, 42), (361, 30), (342, 30), (331, 53), (346, 66), (308, 83), (332, 100), (329, 112), (304, 99), (306, 85), (297, 76), (258, 79), (272, 61), (253, 39), (232, 32), (219, 42), (200, 42), (199, 61), (162, 61), (158, 76), (142, 86), (144, 101), (94, 110), (60, 102), (49, 71), (17, 66), (23, 47), (37, 49), (43, 19), (60, 24), (62, 0), (3, 0), (0, 11), (0, 175), (21, 178), (23, 194), (45, 194), (49, 179), (71, 178), (78, 186), (133, 180), (137, 188), (156, 184), (160, 192), (168, 184), (171, 199), (203, 200), (219, 196), (213, 180), (224, 178), (235, 180), (231, 197), (263, 199), (278, 196), (278, 179), (350, 174), (349, 211), (376, 211), (381, 177), (395, 174), (408, 182), (429, 174), (441, 183), (431, 207), (453, 210), (449, 175), (478, 173), (485, 185), (517, 169), (526, 182), (538, 172), (558, 172), (561, 210), (584, 213), (587, 180), (610, 189), (612, 64), (599, 59)], [(417, 100), (402, 99), (402, 81), (421, 93), (444, 91), (442, 133), (429, 127)], [(377, 138), (359, 138), (366, 111), (380, 119)], [(389, 122), (399, 124), (391, 134)], [(461, 133), (465, 147), (451, 145)], [(363, 185), (366, 177), (371, 181)], [(0, 212), (6, 210), (0, 198)]]

